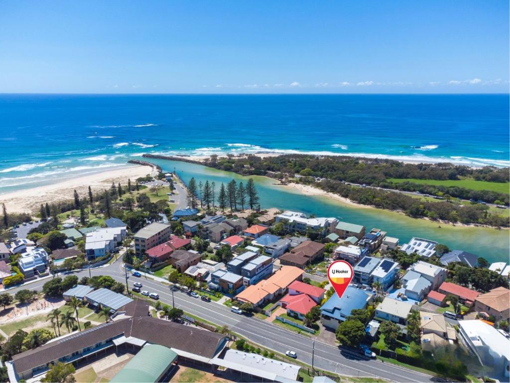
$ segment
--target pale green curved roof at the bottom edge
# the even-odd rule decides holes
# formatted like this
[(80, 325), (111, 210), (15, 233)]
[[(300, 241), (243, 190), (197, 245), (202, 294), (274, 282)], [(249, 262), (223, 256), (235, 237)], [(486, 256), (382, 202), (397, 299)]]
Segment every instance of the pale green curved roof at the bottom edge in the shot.
[(131, 361), (115, 375), (111, 383), (154, 383), (177, 360), (177, 354), (165, 346), (146, 344)]

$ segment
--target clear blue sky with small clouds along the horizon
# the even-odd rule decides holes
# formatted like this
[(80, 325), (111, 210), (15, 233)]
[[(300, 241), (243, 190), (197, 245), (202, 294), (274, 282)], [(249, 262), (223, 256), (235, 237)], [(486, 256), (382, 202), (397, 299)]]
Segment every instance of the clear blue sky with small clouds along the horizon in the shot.
[(508, 92), (508, 2), (0, 2), (0, 92)]

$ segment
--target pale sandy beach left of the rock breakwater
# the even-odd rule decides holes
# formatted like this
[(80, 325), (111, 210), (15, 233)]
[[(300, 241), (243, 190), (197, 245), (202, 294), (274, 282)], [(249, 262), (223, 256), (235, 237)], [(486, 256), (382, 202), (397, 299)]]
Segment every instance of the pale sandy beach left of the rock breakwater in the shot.
[(151, 174), (152, 171), (150, 166), (126, 165), (119, 169), (87, 174), (50, 185), (2, 194), (0, 203), (5, 203), (8, 212), (34, 212), (39, 210), (41, 203), (72, 199), (74, 189), (80, 196), (85, 196), (88, 194), (89, 185), (95, 192), (109, 188), (112, 182), (127, 184), (128, 178), (134, 182), (138, 177), (144, 177)]

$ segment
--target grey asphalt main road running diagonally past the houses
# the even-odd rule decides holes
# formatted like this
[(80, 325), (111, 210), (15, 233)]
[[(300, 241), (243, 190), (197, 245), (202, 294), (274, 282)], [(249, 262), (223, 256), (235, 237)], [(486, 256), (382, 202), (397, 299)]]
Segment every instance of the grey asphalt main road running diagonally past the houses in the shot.
[[(78, 277), (89, 276), (89, 270), (73, 273)], [(125, 283), (125, 272), (121, 267), (121, 260), (113, 264), (90, 270), (91, 275), (109, 275), (119, 282)], [(20, 289), (42, 290), (42, 285), (48, 279), (34, 281), (33, 283), (7, 290), (15, 294)], [(249, 339), (253, 343), (260, 344), (266, 348), (279, 353), (292, 350), (297, 353), (298, 360), (312, 365), (312, 338), (300, 335), (296, 332), (276, 326), (270, 322), (255, 317), (247, 317), (231, 312), (230, 308), (216, 302), (204, 302), (193, 298), (182, 292), (172, 292), (168, 285), (150, 277), (136, 278), (130, 276), (128, 284), (130, 289), (134, 282), (141, 282), (143, 289), (149, 292), (158, 293), (163, 303), (181, 308), (190, 313), (219, 326), (227, 325), (233, 332)], [(315, 341), (313, 353), (314, 367), (335, 372), (339, 375), (369, 376), (372, 378), (383, 378), (395, 382), (427, 382), (432, 380), (431, 375), (396, 366), (390, 363), (383, 363), (379, 360), (371, 360), (357, 353), (343, 350), (339, 347), (327, 345)]]

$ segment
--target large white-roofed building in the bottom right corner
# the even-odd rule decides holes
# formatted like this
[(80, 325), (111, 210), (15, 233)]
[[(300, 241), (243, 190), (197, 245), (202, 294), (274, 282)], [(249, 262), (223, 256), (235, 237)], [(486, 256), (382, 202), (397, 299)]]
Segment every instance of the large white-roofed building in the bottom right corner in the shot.
[(489, 369), (488, 376), (508, 381), (510, 340), (493, 326), (479, 320), (458, 321), (460, 333), (480, 363)]

